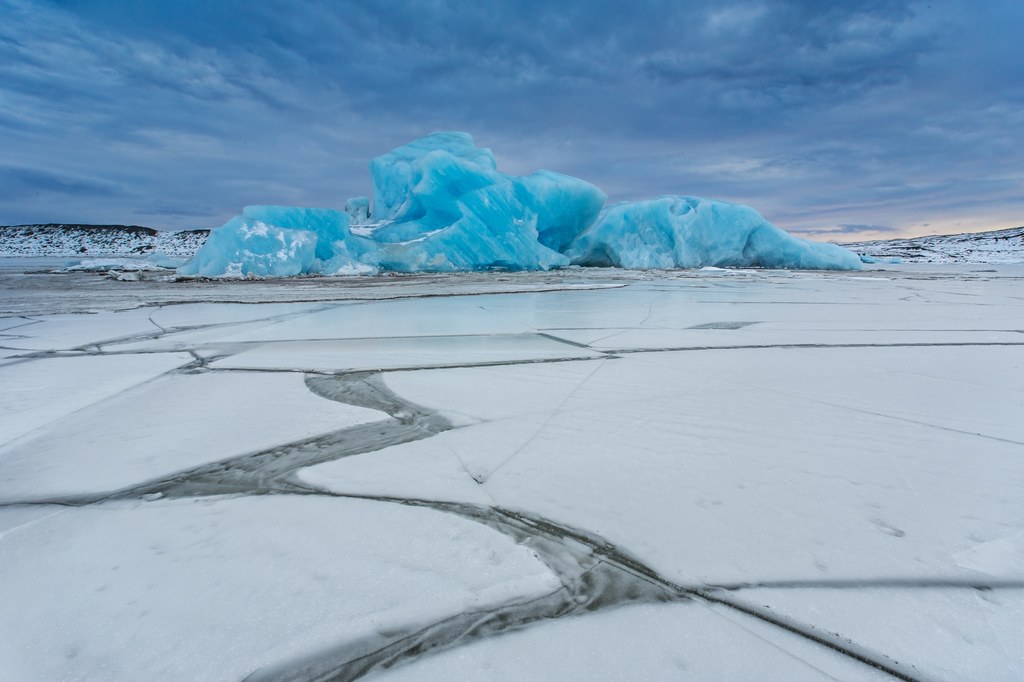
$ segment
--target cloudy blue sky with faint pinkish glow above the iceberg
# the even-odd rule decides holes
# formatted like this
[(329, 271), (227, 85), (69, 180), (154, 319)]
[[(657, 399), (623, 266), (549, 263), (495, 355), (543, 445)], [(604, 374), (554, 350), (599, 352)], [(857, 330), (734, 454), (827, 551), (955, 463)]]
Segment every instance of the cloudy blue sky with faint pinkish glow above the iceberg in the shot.
[(1018, 226), (1022, 35), (1021, 0), (0, 0), (0, 224), (341, 208), (465, 130), (811, 239)]

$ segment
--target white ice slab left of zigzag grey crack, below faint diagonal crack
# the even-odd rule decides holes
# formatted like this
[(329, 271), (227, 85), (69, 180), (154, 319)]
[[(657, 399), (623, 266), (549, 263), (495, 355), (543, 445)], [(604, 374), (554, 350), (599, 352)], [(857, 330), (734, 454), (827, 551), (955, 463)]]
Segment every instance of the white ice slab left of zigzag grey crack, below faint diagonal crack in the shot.
[(386, 417), (313, 395), (300, 374), (162, 377), (0, 447), (0, 500), (113, 492)]

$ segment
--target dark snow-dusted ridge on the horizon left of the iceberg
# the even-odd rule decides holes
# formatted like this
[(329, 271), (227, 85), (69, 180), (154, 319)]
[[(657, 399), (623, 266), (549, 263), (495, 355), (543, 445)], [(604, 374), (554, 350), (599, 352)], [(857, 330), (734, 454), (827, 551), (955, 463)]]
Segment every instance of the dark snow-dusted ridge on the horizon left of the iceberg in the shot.
[(141, 225), (0, 226), (0, 256), (140, 256), (162, 253), (190, 258), (206, 242), (209, 229), (164, 232)]

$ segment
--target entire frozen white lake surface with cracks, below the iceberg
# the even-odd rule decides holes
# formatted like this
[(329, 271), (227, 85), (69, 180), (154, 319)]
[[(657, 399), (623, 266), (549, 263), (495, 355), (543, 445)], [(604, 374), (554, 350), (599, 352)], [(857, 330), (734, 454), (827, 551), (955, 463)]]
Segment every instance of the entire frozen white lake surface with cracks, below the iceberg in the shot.
[(0, 268), (0, 678), (1024, 675), (1024, 267)]

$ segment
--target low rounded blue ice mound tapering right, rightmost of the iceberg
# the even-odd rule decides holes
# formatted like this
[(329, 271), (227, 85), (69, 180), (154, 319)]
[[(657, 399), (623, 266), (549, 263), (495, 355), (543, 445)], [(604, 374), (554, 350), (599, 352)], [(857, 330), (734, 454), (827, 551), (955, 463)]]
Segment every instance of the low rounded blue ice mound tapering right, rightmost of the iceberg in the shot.
[(609, 207), (565, 253), (578, 265), (633, 269), (860, 267), (852, 251), (793, 237), (750, 207), (676, 196)]

